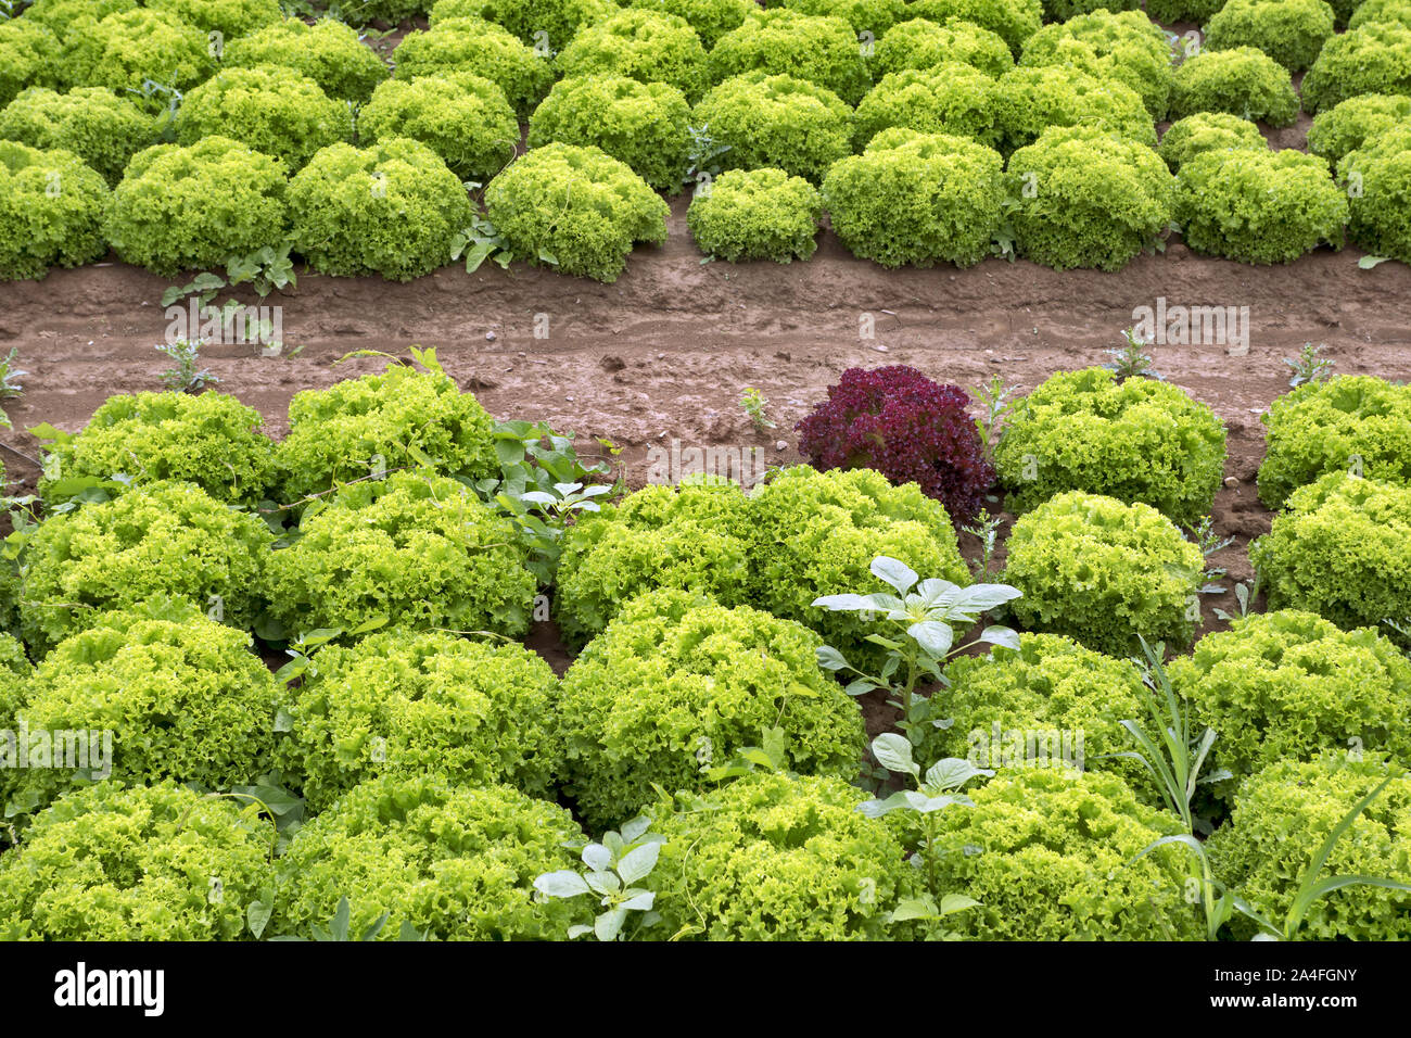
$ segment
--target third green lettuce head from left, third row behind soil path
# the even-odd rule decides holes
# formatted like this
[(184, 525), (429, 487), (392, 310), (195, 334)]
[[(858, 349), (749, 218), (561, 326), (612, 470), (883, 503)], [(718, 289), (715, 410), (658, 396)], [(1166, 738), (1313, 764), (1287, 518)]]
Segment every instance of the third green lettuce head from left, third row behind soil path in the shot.
[(333, 18), (312, 25), (286, 18), (226, 45), (226, 68), (279, 65), (316, 82), (339, 100), (364, 102), (387, 79), (387, 65), (364, 47), (354, 30)]

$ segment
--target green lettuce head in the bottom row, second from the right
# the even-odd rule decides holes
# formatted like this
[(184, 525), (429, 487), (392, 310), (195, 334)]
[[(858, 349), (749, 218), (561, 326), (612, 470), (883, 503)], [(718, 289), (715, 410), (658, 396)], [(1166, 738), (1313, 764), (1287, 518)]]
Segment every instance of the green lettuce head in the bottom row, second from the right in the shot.
[(1194, 939), (1199, 921), (1170, 852), (1130, 863), (1173, 819), (1116, 775), (1022, 768), (940, 812), (938, 878), (979, 901), (959, 917), (982, 941)]

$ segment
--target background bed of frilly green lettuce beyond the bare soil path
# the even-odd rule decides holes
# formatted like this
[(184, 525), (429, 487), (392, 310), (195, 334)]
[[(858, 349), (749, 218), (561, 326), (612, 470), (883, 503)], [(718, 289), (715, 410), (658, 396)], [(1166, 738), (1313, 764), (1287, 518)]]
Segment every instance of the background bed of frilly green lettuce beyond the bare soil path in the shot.
[[(1246, 263), (1348, 236), (1411, 257), (1405, 0), (1229, 0), (1178, 65), (1134, 7), (440, 0), (388, 78), (275, 0), (40, 0), (0, 24), (0, 277), (289, 247), (334, 275), (471, 251), (611, 281), (687, 182), (693, 236), (732, 261), (807, 258), (824, 212), (885, 266), (1115, 270), (1173, 223)], [(1314, 154), (1271, 150), (1252, 120), (1301, 103)]]

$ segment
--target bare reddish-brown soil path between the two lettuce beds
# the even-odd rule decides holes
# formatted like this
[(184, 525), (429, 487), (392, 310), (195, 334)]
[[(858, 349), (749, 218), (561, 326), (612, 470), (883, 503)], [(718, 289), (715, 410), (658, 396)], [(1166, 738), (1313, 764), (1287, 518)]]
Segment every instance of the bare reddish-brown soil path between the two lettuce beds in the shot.
[[(284, 356), (210, 346), (205, 366), (220, 377), (219, 388), (258, 408), (270, 432), (282, 436), (296, 391), (385, 364), (337, 363), (346, 353), (406, 356), (412, 343), (435, 346), (446, 370), (492, 414), (610, 438), (624, 448), (628, 483), (641, 486), (648, 448), (672, 438), (759, 445), (772, 462), (797, 460), (793, 424), (849, 366), (904, 363), (967, 388), (998, 373), (1027, 390), (1054, 371), (1106, 362), (1105, 350), (1133, 323), (1133, 308), (1154, 306), (1157, 297), (1170, 305), (1249, 306), (1247, 356), (1232, 357), (1223, 346), (1151, 350), (1165, 378), (1211, 404), (1229, 426), (1226, 476), (1236, 483), (1221, 491), (1215, 520), (1236, 542), (1215, 562), (1236, 580), (1252, 576), (1246, 545), (1270, 523), (1254, 494), (1259, 414), (1288, 390), (1283, 359), (1321, 342), (1339, 373), (1411, 377), (1411, 270), (1397, 263), (1360, 270), (1352, 249), (1249, 267), (1195, 257), (1177, 241), (1118, 274), (1000, 260), (889, 271), (854, 258), (825, 230), (809, 263), (703, 264), (684, 210), (686, 199), (676, 199), (666, 244), (638, 249), (611, 285), (523, 264), (509, 271), (485, 264), (476, 274), (447, 267), (411, 284), (303, 274), (296, 291), (267, 301), (284, 306)], [(166, 328), (166, 287), (117, 263), (0, 284), (0, 349), (18, 346), (30, 371), (23, 398), (7, 401), (16, 431), (0, 443), (35, 458), (41, 448), (25, 426), (79, 429), (109, 395), (158, 388), (168, 367), (154, 349)], [(859, 338), (864, 314), (875, 319), (873, 340)], [(535, 338), (535, 315), (547, 316), (547, 339)], [(746, 386), (769, 398), (776, 429), (752, 428), (738, 402)], [(786, 446), (776, 449), (776, 441)], [(35, 467), (11, 451), (8, 477), (32, 486)], [(964, 547), (976, 554), (972, 538)], [(1212, 607), (1232, 609), (1230, 599), (1205, 596), (1208, 627), (1221, 626)], [(552, 631), (533, 641), (560, 667), (567, 662)]]

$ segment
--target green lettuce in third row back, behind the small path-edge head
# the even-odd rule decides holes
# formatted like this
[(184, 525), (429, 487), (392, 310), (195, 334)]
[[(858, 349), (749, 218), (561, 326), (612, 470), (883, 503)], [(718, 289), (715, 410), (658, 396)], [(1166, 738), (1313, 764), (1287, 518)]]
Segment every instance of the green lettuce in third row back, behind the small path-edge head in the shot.
[(711, 82), (762, 71), (806, 79), (856, 105), (872, 79), (852, 27), (842, 18), (775, 8), (751, 11), (710, 52)]

